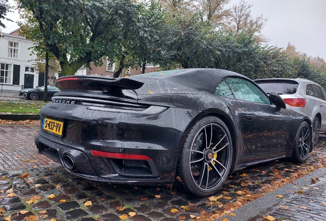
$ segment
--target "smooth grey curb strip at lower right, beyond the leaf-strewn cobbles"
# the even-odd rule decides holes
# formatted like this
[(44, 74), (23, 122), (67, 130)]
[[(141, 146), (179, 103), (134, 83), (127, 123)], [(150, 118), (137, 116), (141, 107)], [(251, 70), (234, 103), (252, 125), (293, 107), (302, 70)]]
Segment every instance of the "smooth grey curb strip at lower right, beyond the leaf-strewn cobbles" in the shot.
[[(316, 176), (320, 177), (325, 174), (326, 167), (315, 170), (312, 173), (309, 173), (305, 176), (302, 176), (302, 178), (295, 180), (297, 185), (288, 183), (287, 185), (277, 188), (276, 190), (259, 197), (257, 200), (254, 200), (249, 204), (234, 210), (232, 213), (236, 214), (236, 216), (226, 215), (223, 216), (223, 218), (227, 217), (230, 221), (250, 220), (251, 218), (254, 218), (260, 213), (275, 207), (276, 204), (279, 204), (281, 201), (283, 201), (281, 198), (275, 197), (275, 195), (289, 195), (290, 193), (288, 190), (294, 189), (294, 186), (309, 186), (311, 185), (311, 178), (316, 178)], [(217, 220), (221, 220), (221, 218)]]

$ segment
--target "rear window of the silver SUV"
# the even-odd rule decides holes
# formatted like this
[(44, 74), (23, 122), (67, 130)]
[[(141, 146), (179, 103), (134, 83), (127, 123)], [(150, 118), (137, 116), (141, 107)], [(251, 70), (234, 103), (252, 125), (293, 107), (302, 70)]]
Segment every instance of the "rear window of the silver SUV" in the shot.
[(266, 94), (271, 92), (281, 95), (295, 94), (299, 86), (299, 83), (293, 80), (255, 80), (255, 82)]

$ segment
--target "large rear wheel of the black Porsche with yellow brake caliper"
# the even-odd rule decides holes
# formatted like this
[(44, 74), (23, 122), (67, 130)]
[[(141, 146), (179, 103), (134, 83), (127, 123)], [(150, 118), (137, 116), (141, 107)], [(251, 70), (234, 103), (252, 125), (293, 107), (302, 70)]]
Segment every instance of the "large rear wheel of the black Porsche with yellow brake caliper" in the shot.
[(213, 195), (227, 179), (232, 164), (232, 141), (217, 117), (201, 118), (189, 131), (181, 149), (177, 174), (182, 187), (203, 197)]

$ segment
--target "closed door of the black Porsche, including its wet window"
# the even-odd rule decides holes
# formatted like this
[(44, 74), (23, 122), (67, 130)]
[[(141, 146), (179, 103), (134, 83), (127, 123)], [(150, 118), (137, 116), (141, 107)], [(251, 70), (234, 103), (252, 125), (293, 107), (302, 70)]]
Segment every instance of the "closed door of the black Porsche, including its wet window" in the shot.
[(225, 79), (238, 101), (247, 148), (257, 154), (278, 156), (286, 150), (289, 140), (290, 117), (281, 109), (276, 111), (267, 95), (247, 79)]

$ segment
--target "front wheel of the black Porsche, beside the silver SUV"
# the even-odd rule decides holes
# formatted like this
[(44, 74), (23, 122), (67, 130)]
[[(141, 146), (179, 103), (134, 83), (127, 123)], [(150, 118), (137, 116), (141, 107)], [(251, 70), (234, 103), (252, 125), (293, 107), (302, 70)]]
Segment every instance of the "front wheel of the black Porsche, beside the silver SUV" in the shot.
[(296, 163), (302, 163), (308, 158), (311, 148), (311, 133), (309, 124), (303, 121), (297, 131), (291, 160)]

